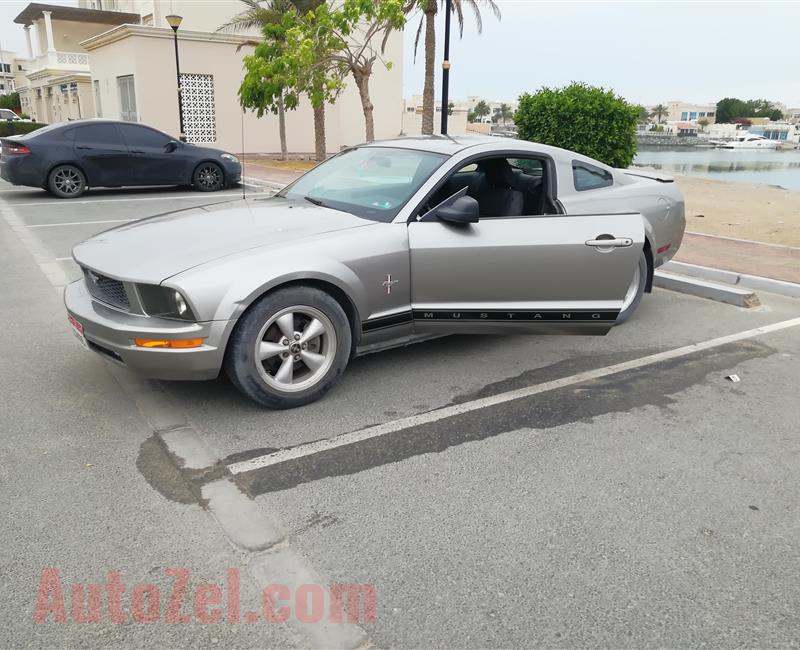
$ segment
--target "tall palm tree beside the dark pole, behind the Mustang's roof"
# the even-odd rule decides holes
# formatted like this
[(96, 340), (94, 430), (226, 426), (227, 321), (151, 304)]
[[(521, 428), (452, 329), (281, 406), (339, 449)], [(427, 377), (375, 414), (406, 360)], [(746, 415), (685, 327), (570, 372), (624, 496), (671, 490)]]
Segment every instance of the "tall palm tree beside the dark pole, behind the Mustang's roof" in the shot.
[[(458, 35), (464, 35), (464, 7), (467, 6), (472, 10), (475, 16), (475, 26), (478, 33), (483, 32), (483, 18), (481, 17), (481, 6), (488, 7), (492, 10), (497, 20), (502, 17), (500, 8), (494, 3), (494, 0), (452, 0), (453, 13), (458, 21)], [(444, 4), (444, 0), (442, 0)], [(422, 35), (422, 27), (425, 26), (425, 84), (422, 88), (422, 133), (423, 135), (430, 135), (433, 133), (433, 114), (434, 108), (434, 93), (433, 93), (433, 80), (434, 68), (436, 59), (436, 14), (439, 11), (439, 3), (437, 0), (416, 0), (406, 5), (408, 11), (414, 9), (422, 10), (422, 17), (417, 27), (417, 35), (414, 39), (414, 58), (417, 56), (417, 46), (419, 45), (419, 37)]]

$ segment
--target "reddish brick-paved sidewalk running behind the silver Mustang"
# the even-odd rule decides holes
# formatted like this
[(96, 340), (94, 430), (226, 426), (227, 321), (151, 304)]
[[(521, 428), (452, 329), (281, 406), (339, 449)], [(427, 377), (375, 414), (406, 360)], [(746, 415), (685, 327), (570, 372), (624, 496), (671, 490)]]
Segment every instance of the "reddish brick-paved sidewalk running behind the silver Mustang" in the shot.
[[(246, 162), (244, 173), (249, 178), (278, 185), (287, 185), (301, 174), (261, 162)], [(800, 283), (798, 248), (687, 232), (675, 260)]]

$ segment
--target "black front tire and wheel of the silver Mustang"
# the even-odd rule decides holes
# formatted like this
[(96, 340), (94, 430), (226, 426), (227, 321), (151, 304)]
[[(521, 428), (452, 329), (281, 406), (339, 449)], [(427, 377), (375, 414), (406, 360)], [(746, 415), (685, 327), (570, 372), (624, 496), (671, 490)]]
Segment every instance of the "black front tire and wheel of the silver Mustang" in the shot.
[[(279, 327), (276, 317), (293, 314), (290, 322), (297, 327), (298, 332), (303, 332), (304, 327), (309, 327), (311, 320), (306, 312), (312, 312), (319, 316), (326, 327), (325, 333), (319, 338), (310, 339), (316, 342), (319, 347), (311, 348), (312, 343), (308, 343), (308, 352), (316, 354), (316, 357), (325, 357), (326, 363), (321, 364), (314, 370), (307, 366), (300, 357), (304, 355), (303, 350), (294, 350), (301, 340), (291, 341), (291, 345), (285, 343), (284, 328)], [(308, 320), (305, 320), (309, 318)], [(328, 333), (330, 326), (333, 335)], [(294, 337), (297, 339), (297, 336)], [(269, 358), (262, 361), (256, 354), (257, 346), (262, 345), (288, 345), (287, 351), (274, 353)], [(339, 376), (347, 366), (350, 358), (350, 346), (352, 337), (350, 333), (350, 323), (341, 305), (330, 295), (313, 287), (289, 287), (274, 293), (267, 294), (255, 302), (239, 319), (233, 333), (231, 334), (228, 348), (225, 354), (225, 372), (231, 382), (240, 392), (254, 400), (262, 406), (271, 409), (289, 409), (303, 406), (322, 397), (331, 386), (336, 383)], [(293, 356), (295, 352), (299, 354)], [(300, 359), (294, 361), (295, 359)], [(290, 382), (297, 379), (297, 387), (282, 390), (278, 384), (281, 382), (279, 377), (279, 366), (286, 363), (292, 367)], [(308, 374), (303, 374), (303, 373)], [(294, 374), (297, 373), (297, 374)], [(315, 377), (315, 373), (319, 373)], [(298, 378), (299, 377), (299, 378)], [(303, 387), (303, 378), (306, 382), (311, 382)]]

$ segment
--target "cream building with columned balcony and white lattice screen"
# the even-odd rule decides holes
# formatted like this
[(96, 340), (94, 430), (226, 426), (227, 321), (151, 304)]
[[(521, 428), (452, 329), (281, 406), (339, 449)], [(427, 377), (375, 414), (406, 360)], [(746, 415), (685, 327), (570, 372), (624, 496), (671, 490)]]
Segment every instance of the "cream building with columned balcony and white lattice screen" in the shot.
[[(218, 32), (244, 4), (207, 0), (79, 0), (78, 7), (32, 3), (14, 20), (26, 31), (28, 70), (19, 88), (22, 110), (33, 119), (57, 122), (106, 117), (149, 124), (179, 133), (173, 31), (165, 16), (180, 13), (178, 30), (184, 123), (190, 142), (232, 151), (280, 150), (277, 117), (242, 116), (237, 91), (247, 41), (259, 34)], [(385, 59), (370, 83), (376, 138), (401, 130), (402, 34), (393, 33)], [(237, 50), (237, 48), (240, 48)], [(361, 102), (355, 84), (326, 106), (328, 151), (364, 140)], [(307, 102), (287, 112), (293, 152), (314, 150), (312, 111)], [(242, 141), (244, 121), (244, 142)]]

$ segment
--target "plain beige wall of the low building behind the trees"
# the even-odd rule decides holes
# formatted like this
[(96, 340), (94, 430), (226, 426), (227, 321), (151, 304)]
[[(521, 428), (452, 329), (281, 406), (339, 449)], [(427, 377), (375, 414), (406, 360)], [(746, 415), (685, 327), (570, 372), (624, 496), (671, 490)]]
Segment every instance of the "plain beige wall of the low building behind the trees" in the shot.
[[(181, 33), (182, 32), (182, 33)], [(280, 151), (278, 118), (268, 114), (258, 119), (253, 113), (244, 117), (245, 141), (242, 143), (242, 111), (237, 91), (243, 77), (242, 57), (252, 48), (237, 52), (234, 37), (200, 32), (179, 35), (181, 72), (210, 74), (214, 78), (215, 122), (217, 138), (212, 146), (230, 151)], [(139, 121), (167, 133), (179, 133), (175, 57), (172, 31), (143, 26), (122, 26), (84, 44), (89, 49), (92, 79), (100, 86), (103, 116), (119, 119), (120, 98), (117, 77), (134, 75)], [(391, 70), (376, 64), (371, 82), (375, 105), (376, 138), (395, 137), (400, 133), (402, 102), (402, 35), (393, 34), (387, 47)], [(335, 105), (326, 107), (327, 149), (364, 140), (364, 118), (355, 84), (348, 77), (347, 88)], [(287, 140), (292, 152), (314, 151), (311, 107), (303, 102), (287, 113)]]

